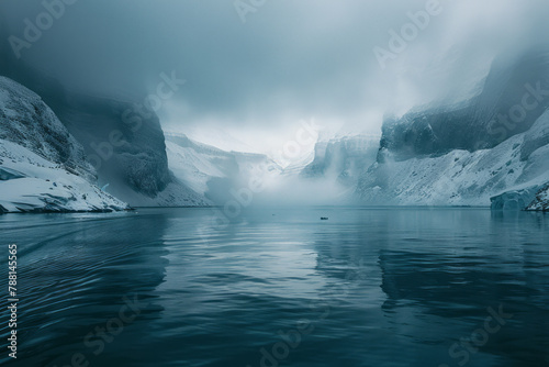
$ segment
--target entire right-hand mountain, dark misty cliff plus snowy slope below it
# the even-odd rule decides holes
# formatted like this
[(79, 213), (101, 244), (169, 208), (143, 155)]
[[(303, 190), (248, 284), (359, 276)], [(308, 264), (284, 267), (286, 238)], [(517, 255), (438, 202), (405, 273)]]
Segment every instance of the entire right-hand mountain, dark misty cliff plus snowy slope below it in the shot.
[(388, 121), (358, 194), (418, 205), (490, 205), (494, 198), (494, 208), (524, 209), (549, 182), (547, 55), (494, 65), (482, 93), (458, 109)]

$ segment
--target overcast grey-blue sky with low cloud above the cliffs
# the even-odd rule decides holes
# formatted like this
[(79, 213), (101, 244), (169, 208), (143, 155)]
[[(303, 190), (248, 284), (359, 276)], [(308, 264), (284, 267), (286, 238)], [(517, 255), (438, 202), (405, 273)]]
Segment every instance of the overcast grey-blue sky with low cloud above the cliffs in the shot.
[[(239, 13), (233, 0), (78, 0), (21, 55), (71, 88), (104, 93), (154, 91), (176, 70), (187, 84), (159, 112), (166, 129), (203, 140), (222, 130), (261, 149), (312, 118), (328, 131), (379, 132), (383, 113), (463, 98), (495, 55), (549, 34), (547, 0), (440, 0), (382, 68), (374, 49), (391, 52), (389, 32), (430, 1), (254, 2)], [(0, 11), (2, 37), (24, 40), (24, 19), (36, 23), (45, 8), (2, 0)]]

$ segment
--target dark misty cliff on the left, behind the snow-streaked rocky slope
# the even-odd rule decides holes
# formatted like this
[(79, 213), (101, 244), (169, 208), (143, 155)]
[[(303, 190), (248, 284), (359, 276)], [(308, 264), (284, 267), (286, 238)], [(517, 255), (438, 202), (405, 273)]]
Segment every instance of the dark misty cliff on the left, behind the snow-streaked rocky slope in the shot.
[[(83, 146), (101, 186), (132, 205), (204, 204), (168, 168), (164, 133), (143, 99), (113, 99), (66, 90), (55, 79), (15, 60), (0, 43), (0, 75), (41, 96)], [(5, 45), (4, 45), (5, 46)], [(145, 97), (145, 96), (143, 96)]]

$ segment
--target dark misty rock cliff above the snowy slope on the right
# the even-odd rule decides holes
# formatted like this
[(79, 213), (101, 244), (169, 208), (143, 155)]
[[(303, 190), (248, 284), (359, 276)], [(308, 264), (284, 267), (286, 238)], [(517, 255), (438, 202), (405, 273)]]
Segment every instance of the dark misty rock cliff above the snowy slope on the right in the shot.
[[(494, 62), (482, 92), (459, 105), (413, 111), (383, 125), (381, 152), (396, 160), (492, 148), (528, 131), (549, 107), (549, 52)], [(380, 155), (380, 160), (383, 155)]]

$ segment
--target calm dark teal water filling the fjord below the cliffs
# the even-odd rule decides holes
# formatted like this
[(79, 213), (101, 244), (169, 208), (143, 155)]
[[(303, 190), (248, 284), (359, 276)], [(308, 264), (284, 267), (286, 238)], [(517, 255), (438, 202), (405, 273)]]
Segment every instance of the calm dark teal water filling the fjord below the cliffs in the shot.
[(8, 243), (20, 256), (9, 363), (549, 366), (547, 215), (315, 208), (219, 222), (211, 209), (0, 215), (0, 258)]

